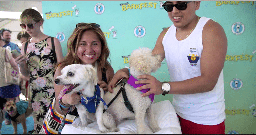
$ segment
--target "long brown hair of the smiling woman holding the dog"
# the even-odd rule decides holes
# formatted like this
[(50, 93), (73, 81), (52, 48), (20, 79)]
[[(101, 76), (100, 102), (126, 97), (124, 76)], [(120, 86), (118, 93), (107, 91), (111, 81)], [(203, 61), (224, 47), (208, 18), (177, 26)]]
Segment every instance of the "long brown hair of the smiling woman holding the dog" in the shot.
[[(67, 41), (67, 48), (68, 48), (68, 53), (67, 55), (63, 58), (62, 61), (56, 64), (55, 66), (55, 71), (59, 66), (67, 66), (70, 64), (82, 64), (82, 61), (79, 59), (77, 55), (77, 48), (79, 45), (79, 41), (85, 31), (92, 30), (94, 31), (97, 35), (98, 38), (100, 39), (101, 42), (101, 54), (99, 56), (99, 59), (97, 60), (99, 62), (99, 68), (101, 69), (102, 72), (106, 72), (106, 69), (108, 69), (110, 63), (108, 62), (107, 58), (109, 57), (109, 49), (107, 46), (107, 41), (105, 38), (104, 33), (101, 31), (100, 28), (93, 28), (90, 25), (87, 26), (80, 26), (76, 27), (71, 36), (69, 37)], [(105, 70), (103, 70), (105, 68)]]

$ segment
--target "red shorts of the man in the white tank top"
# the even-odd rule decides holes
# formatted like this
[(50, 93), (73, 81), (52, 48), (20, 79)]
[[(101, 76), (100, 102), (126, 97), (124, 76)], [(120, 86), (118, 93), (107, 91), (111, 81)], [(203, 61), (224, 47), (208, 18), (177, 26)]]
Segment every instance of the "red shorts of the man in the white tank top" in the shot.
[(202, 125), (177, 116), (180, 120), (182, 134), (225, 134), (225, 120), (218, 125)]

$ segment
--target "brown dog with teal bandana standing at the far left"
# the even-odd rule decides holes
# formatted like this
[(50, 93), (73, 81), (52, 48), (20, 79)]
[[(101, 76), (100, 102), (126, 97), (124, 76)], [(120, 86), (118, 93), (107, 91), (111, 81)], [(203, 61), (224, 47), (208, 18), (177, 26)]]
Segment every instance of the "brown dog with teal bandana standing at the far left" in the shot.
[[(22, 127), (23, 127), (22, 134), (27, 134), (26, 118), (30, 114), (32, 114), (32, 109), (29, 109), (28, 107), (26, 108), (26, 111), (24, 107), (18, 107), (18, 108), (21, 108), (21, 110), (17, 109), (17, 105), (20, 106), (21, 104), (26, 104), (26, 103), (28, 102), (20, 101), (19, 103), (16, 104), (13, 100), (9, 100), (4, 105), (4, 109), (9, 114), (9, 118), (11, 119), (11, 124), (14, 129), (13, 134), (17, 134), (17, 123), (22, 123)], [(20, 113), (23, 113), (23, 114), (20, 114)]]

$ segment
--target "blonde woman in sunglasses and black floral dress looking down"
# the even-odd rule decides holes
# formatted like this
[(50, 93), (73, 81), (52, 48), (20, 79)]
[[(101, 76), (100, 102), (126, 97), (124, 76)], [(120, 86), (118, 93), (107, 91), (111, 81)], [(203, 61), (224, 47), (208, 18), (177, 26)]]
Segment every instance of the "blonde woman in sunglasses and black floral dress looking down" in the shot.
[(44, 19), (38, 11), (24, 10), (20, 15), (20, 22), (20, 26), (31, 36), (31, 39), (22, 44), (22, 55), (15, 61), (20, 65), (22, 75), (30, 77), (34, 130), (39, 133), (49, 105), (55, 98), (54, 66), (63, 59), (63, 54), (59, 40), (41, 31), (40, 27), (43, 26)]

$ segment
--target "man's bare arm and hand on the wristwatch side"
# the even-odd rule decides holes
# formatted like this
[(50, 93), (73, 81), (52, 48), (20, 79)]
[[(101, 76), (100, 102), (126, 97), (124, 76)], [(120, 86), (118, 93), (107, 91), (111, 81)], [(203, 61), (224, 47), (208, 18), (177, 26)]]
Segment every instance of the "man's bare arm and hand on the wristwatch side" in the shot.
[[(169, 94), (193, 94), (211, 91), (216, 85), (220, 72), (223, 69), (225, 56), (227, 52), (226, 34), (220, 24), (209, 20), (203, 28), (202, 33), (203, 51), (201, 54), (201, 76), (187, 79), (184, 81), (169, 82), (171, 91)], [(137, 90), (151, 89), (142, 96), (151, 93), (161, 94), (162, 82), (152, 76), (141, 75), (135, 83), (145, 83), (146, 85), (138, 87)]]

